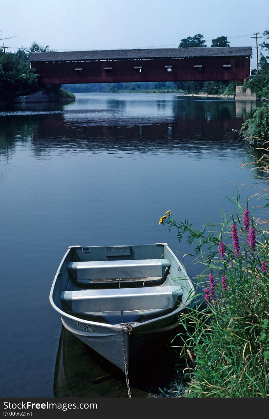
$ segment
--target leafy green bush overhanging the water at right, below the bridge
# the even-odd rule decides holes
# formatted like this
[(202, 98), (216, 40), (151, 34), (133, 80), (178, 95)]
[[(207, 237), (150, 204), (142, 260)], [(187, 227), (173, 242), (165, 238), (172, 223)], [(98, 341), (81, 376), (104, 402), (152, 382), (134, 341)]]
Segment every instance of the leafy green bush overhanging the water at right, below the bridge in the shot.
[(251, 109), (252, 118), (242, 124), (240, 137), (251, 145), (269, 141), (269, 103)]

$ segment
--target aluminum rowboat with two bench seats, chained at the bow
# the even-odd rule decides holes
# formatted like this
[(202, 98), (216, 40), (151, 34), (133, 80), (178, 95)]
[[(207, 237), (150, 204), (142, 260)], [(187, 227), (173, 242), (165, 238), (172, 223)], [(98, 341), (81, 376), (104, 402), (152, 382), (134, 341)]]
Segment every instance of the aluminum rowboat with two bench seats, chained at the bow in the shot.
[(171, 335), (193, 296), (182, 264), (156, 243), (69, 246), (49, 299), (67, 330), (124, 371), (145, 343)]

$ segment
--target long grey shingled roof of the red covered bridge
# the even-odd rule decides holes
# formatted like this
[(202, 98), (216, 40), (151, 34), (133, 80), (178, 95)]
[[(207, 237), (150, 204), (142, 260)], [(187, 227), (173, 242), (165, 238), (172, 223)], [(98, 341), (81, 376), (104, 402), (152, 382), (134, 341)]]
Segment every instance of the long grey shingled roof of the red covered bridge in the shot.
[(33, 52), (31, 62), (40, 61), (85, 61), (111, 59), (154, 59), (190, 57), (231, 57), (252, 55), (252, 47), (212, 47), (212, 48), (148, 48), (110, 49), (94, 51)]

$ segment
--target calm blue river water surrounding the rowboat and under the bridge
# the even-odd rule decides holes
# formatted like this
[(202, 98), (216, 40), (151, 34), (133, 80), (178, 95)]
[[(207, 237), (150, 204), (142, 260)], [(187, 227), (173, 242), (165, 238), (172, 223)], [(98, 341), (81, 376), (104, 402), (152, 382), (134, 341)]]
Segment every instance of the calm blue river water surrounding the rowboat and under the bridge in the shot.
[[(182, 260), (189, 248), (159, 226), (164, 212), (200, 227), (220, 221), (220, 206), (233, 211), (225, 195), (239, 191), (244, 204), (256, 192), (239, 167), (251, 150), (233, 131), (253, 104), (76, 97), (0, 109), (2, 397), (126, 397), (123, 373), (61, 331), (49, 304), (67, 247), (167, 242)], [(184, 265), (195, 282), (199, 268), (188, 257)], [(176, 393), (179, 360), (167, 351), (131, 378), (133, 396)]]

